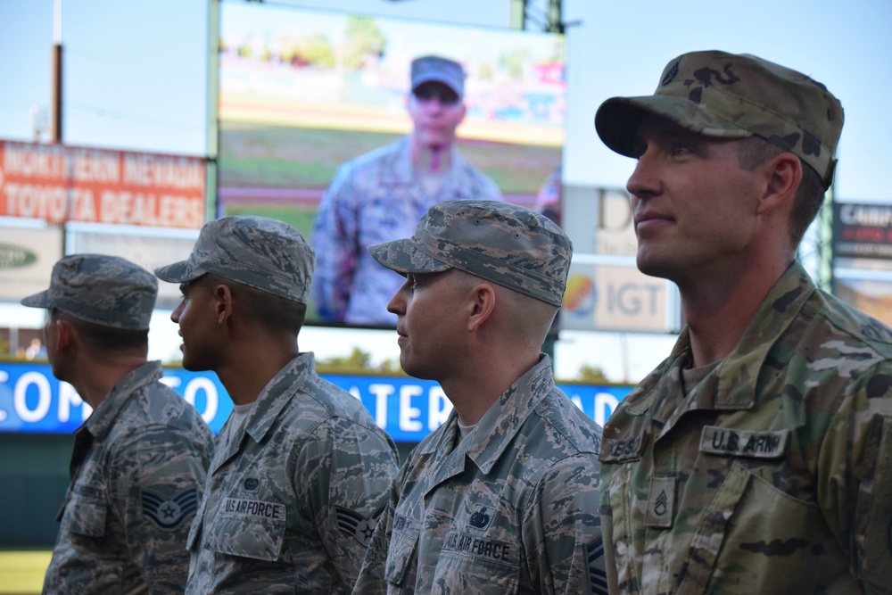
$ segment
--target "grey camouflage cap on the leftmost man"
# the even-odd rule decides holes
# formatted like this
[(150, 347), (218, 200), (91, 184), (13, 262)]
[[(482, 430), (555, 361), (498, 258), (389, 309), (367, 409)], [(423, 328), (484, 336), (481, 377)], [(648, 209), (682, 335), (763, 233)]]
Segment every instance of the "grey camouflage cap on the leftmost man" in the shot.
[(113, 328), (149, 327), (158, 281), (119, 256), (72, 254), (56, 262), (50, 287), (21, 300), (22, 306), (54, 309)]

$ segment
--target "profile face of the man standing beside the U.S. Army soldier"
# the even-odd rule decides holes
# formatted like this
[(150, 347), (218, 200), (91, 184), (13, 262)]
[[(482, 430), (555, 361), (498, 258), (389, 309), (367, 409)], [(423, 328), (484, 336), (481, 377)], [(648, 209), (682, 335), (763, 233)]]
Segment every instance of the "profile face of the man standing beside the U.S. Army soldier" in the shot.
[(409, 275), (387, 304), (397, 315), (400, 364), (417, 378), (448, 380), (460, 368), (467, 283), (461, 271)]

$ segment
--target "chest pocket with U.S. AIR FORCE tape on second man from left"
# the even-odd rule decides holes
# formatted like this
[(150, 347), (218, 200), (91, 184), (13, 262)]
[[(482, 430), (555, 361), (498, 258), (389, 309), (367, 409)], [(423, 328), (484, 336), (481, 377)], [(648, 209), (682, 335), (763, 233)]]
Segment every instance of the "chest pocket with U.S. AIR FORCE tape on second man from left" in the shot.
[[(285, 542), (285, 505), (259, 500), (237, 500), (237, 503), (243, 501), (249, 502), (237, 508), (239, 511), (244, 509), (243, 514), (221, 511), (210, 527), (204, 527), (203, 530), (208, 532), (208, 547), (229, 556), (268, 562), (277, 560)], [(244, 514), (261, 508), (267, 516)]]

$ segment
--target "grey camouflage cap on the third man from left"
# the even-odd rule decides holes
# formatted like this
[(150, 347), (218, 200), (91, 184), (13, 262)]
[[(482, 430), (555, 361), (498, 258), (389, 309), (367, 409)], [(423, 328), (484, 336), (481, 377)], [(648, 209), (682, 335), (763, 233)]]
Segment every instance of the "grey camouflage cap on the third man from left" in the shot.
[(573, 245), (553, 221), (499, 201), (434, 204), (406, 239), (368, 246), (402, 275), (463, 270), (560, 306)]

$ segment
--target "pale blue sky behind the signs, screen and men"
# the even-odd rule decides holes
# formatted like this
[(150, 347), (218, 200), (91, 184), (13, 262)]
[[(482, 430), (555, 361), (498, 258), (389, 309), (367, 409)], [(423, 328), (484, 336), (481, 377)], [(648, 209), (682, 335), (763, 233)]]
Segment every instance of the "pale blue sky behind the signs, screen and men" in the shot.
[[(204, 155), (208, 147), (207, 53), (211, 0), (61, 0), (63, 133), (69, 145)], [(275, 4), (506, 28), (509, 0), (294, 0)], [(533, 3), (536, 4), (536, 3)], [(539, 3), (541, 4), (541, 3)], [(0, 0), (0, 138), (34, 138), (32, 106), (50, 104), (54, 0)], [(888, 0), (565, 0), (568, 112), (564, 182), (623, 187), (632, 160), (594, 132), (599, 104), (649, 95), (665, 64), (689, 51), (756, 54), (809, 74), (838, 96), (846, 125), (836, 196), (892, 202), (892, 2)], [(29, 309), (0, 317), (33, 323)], [(12, 314), (10, 313), (12, 311)], [(161, 313), (150, 341), (169, 358), (175, 326)], [(42, 318), (37, 326), (42, 325)], [(318, 357), (358, 344), (376, 359), (399, 354), (392, 333), (307, 328), (301, 348)], [(637, 382), (671, 349), (672, 335), (567, 333), (558, 377), (583, 363)], [(156, 337), (158, 338), (156, 340)], [(163, 340), (162, 340), (163, 339)], [(349, 351), (349, 349), (347, 350)]]

